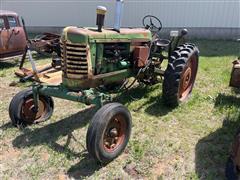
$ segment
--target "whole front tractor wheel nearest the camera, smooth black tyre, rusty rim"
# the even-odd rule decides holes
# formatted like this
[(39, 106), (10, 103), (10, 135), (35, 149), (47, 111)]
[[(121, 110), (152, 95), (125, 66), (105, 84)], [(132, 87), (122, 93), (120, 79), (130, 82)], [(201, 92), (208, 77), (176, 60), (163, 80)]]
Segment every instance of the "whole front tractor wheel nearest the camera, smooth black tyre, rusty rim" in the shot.
[(109, 103), (94, 115), (87, 131), (88, 152), (99, 162), (109, 163), (119, 156), (130, 138), (131, 114), (119, 103)]

